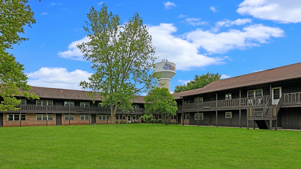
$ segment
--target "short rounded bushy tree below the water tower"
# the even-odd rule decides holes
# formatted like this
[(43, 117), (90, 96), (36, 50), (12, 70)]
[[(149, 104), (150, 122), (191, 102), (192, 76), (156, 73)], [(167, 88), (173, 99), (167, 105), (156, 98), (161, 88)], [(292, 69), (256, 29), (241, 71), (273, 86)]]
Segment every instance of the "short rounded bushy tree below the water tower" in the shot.
[(145, 117), (159, 113), (165, 125), (170, 124), (170, 116), (176, 115), (177, 102), (168, 88), (154, 88), (144, 97)]

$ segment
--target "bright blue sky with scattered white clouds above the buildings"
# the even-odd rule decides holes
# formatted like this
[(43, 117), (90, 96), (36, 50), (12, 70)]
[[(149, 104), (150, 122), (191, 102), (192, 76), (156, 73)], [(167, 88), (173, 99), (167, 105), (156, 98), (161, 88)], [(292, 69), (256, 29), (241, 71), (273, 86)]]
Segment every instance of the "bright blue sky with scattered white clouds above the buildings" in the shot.
[[(86, 14), (101, 3), (126, 22), (135, 12), (149, 27), (158, 61), (176, 64), (176, 85), (206, 72), (223, 78), (301, 62), (301, 1), (29, 1), (36, 24), (9, 51), (32, 86), (80, 89), (92, 73), (76, 44)], [(300, 68), (301, 69), (301, 68)]]

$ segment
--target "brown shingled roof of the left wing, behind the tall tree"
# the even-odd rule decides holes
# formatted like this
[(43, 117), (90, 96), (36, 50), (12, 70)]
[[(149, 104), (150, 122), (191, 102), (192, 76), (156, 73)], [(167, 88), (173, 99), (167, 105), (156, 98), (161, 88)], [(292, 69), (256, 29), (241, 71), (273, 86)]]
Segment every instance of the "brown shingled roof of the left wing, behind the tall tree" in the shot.
[[(79, 91), (70, 89), (59, 89), (59, 88), (44, 88), (31, 86), (30, 93), (38, 95), (40, 98), (52, 98), (52, 99), (72, 99), (72, 100), (92, 100), (87, 97), (86, 94), (89, 91)], [(137, 100), (130, 100), (133, 103), (144, 103), (144, 96), (138, 96)], [(98, 98), (96, 100), (103, 100)]]

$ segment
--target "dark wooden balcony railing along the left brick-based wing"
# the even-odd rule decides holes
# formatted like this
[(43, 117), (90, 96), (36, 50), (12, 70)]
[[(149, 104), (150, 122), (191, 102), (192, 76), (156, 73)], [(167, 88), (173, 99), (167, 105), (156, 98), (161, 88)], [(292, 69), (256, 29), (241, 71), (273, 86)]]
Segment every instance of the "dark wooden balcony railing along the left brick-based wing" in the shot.
[[(16, 106), (20, 108), (20, 105)], [(41, 105), (21, 105), (21, 111), (49, 111), (49, 112), (69, 112), (69, 106), (41, 106)], [(144, 113), (145, 109), (129, 109), (126, 112)], [(109, 107), (81, 107), (70, 106), (70, 112), (110, 112)], [(121, 109), (117, 109), (117, 113), (122, 113)]]

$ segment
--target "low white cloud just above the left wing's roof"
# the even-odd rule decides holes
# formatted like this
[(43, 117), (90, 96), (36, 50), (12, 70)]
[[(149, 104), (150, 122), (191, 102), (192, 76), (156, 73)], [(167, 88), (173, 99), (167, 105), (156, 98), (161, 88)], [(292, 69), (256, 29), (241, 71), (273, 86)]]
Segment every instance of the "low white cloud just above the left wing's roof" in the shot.
[(28, 84), (46, 88), (64, 88), (81, 90), (80, 81), (88, 81), (92, 73), (82, 70), (68, 72), (66, 68), (42, 67), (36, 72), (27, 73)]

